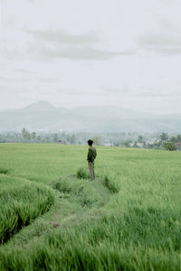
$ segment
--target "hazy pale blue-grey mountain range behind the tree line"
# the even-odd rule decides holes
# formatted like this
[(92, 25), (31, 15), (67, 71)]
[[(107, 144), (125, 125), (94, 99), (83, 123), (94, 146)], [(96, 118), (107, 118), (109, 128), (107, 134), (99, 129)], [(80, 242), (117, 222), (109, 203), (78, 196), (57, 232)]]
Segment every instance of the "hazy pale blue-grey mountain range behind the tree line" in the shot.
[(181, 115), (151, 115), (122, 107), (53, 107), (40, 101), (20, 109), (0, 111), (0, 132), (176, 132), (181, 131)]

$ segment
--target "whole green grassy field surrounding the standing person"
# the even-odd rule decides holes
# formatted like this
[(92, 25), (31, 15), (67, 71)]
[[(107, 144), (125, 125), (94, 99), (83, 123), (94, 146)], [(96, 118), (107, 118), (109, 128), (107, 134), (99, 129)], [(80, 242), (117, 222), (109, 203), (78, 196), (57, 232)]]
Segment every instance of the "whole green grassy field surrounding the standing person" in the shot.
[(90, 182), (86, 146), (0, 145), (0, 270), (180, 270), (181, 153), (97, 151)]

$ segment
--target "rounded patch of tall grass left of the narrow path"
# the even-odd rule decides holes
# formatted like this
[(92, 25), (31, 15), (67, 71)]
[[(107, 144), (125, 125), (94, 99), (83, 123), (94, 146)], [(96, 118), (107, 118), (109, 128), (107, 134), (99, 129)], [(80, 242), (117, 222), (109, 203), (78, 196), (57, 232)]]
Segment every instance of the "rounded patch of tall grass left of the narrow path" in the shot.
[(0, 244), (49, 210), (53, 201), (43, 184), (0, 175)]

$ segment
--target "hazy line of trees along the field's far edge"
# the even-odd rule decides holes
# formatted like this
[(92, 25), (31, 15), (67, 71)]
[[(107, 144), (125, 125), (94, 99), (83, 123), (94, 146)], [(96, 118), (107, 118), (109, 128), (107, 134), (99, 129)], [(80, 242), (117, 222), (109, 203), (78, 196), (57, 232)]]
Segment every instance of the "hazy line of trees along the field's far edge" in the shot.
[(23, 128), (21, 132), (0, 134), (0, 143), (57, 143), (85, 145), (92, 138), (95, 145), (112, 145), (133, 148), (154, 148), (174, 151), (181, 150), (181, 135), (167, 133), (86, 133), (86, 132), (37, 132)]

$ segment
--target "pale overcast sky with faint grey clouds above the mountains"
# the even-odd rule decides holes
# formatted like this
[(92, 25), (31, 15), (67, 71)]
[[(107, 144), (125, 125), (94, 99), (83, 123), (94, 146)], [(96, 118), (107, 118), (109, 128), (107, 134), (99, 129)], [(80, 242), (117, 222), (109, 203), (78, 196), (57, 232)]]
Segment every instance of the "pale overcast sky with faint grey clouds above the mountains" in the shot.
[(0, 0), (0, 109), (181, 113), (180, 0)]

